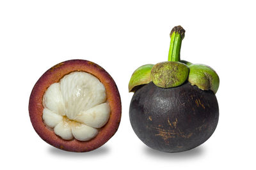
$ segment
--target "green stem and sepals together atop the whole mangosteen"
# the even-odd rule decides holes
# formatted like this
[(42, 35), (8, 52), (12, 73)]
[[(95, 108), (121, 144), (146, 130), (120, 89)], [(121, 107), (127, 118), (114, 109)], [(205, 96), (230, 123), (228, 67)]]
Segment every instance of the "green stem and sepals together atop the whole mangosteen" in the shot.
[(211, 67), (180, 60), (180, 48), (184, 36), (185, 30), (181, 26), (173, 27), (170, 33), (168, 61), (156, 65), (147, 64), (136, 69), (129, 81), (129, 92), (135, 92), (140, 85), (150, 81), (153, 81), (157, 87), (172, 88), (182, 85), (187, 80), (199, 89), (217, 92), (220, 79)]

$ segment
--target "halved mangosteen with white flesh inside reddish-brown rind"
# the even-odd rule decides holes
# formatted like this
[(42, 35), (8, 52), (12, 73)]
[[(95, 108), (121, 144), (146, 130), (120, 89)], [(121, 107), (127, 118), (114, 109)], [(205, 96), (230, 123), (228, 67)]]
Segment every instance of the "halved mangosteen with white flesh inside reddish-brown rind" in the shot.
[(88, 60), (67, 60), (51, 67), (29, 98), (29, 116), (38, 135), (70, 152), (104, 145), (118, 129), (121, 110), (115, 81)]

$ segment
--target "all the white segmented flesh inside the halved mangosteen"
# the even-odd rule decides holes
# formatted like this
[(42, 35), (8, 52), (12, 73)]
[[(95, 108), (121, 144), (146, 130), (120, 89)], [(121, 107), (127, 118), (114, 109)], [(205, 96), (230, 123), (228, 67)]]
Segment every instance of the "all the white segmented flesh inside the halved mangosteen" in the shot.
[(104, 85), (92, 74), (74, 71), (53, 83), (43, 97), (43, 120), (65, 140), (88, 141), (109, 119)]

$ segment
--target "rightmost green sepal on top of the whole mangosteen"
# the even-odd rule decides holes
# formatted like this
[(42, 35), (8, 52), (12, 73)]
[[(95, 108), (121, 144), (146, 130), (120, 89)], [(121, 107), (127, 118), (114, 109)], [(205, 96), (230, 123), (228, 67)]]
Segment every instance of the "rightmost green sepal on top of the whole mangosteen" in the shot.
[(212, 90), (214, 94), (218, 91), (220, 78), (209, 66), (204, 64), (191, 64), (189, 66), (188, 81), (202, 90)]

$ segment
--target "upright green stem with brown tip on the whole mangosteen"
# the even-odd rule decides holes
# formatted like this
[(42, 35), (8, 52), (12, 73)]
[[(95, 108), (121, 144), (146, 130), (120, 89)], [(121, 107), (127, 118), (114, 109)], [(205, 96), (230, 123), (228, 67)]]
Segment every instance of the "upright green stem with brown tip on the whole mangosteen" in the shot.
[(170, 37), (170, 49), (168, 55), (168, 61), (180, 61), (180, 48), (181, 41), (185, 36), (185, 30), (181, 26), (173, 27)]

